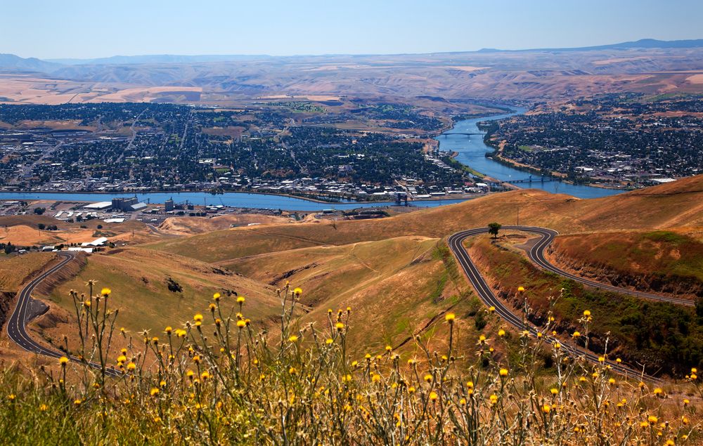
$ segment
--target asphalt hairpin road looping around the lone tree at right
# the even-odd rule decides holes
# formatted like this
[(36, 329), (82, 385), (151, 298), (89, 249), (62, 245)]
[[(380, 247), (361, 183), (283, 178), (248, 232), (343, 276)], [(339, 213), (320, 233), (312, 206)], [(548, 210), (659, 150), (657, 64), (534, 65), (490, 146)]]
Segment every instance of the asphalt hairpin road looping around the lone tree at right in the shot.
[[(554, 238), (555, 235), (557, 235), (557, 232), (554, 230), (546, 229), (546, 228), (536, 228), (533, 226), (503, 226), (503, 229), (507, 230), (522, 230), (525, 232), (533, 232), (535, 234), (541, 235), (542, 238), (539, 240), (530, 251), (528, 251), (528, 256), (531, 258), (532, 261), (537, 263), (538, 265), (544, 267), (544, 265), (549, 265), (550, 268), (546, 268), (550, 271), (553, 271), (554, 273), (560, 274), (560, 275), (565, 275), (566, 277), (573, 278), (574, 280), (580, 279), (580, 277), (574, 277), (573, 275), (569, 275), (568, 273), (563, 272), (559, 268), (556, 268), (555, 266), (551, 265), (546, 261), (546, 259), (543, 256), (543, 251), (544, 248), (550, 244)], [(513, 327), (520, 329), (520, 330), (527, 330), (530, 334), (530, 336), (537, 336), (538, 330), (536, 327), (533, 325), (529, 324), (528, 322), (523, 322), (522, 317), (515, 315), (512, 313), (512, 311), (506, 307), (503, 302), (500, 299), (497, 299), (496, 296), (493, 294), (493, 291), (491, 291), (491, 288), (489, 285), (486, 283), (486, 280), (484, 277), (479, 273), (479, 270), (477, 269), (476, 265), (473, 263), (471, 258), (466, 252), (466, 249), (462, 246), (463, 240), (465, 240), (467, 237), (472, 237), (474, 235), (479, 235), (479, 234), (484, 234), (488, 232), (488, 228), (475, 228), (475, 229), (470, 229), (470, 230), (465, 230), (465, 231), (460, 231), (456, 232), (456, 234), (453, 234), (449, 237), (447, 240), (447, 243), (449, 244), (449, 249), (453, 252), (454, 256), (456, 256), (457, 261), (461, 265), (461, 268), (464, 270), (464, 273), (467, 275), (469, 278), (469, 281), (473, 285), (473, 287), (476, 289), (477, 294), (481, 298), (482, 301), (486, 304), (486, 306), (493, 306), (496, 308), (496, 313), (505, 320), (505, 322), (508, 322), (510, 325)], [(581, 282), (581, 280), (579, 280)], [(588, 282), (588, 281), (587, 281)], [(602, 285), (602, 284), (601, 284)], [(614, 288), (615, 290), (623, 293), (630, 293), (631, 291), (628, 289), (619, 289), (616, 287), (611, 287)], [(657, 297), (662, 297), (662, 296), (657, 296)], [(562, 348), (569, 353), (569, 355), (572, 356), (577, 356), (581, 358), (585, 358), (586, 360), (594, 363), (598, 363), (598, 357), (599, 355), (596, 355), (595, 353), (592, 353), (591, 351), (584, 350), (583, 348), (579, 348), (573, 345), (570, 345), (569, 343), (565, 343), (561, 339), (555, 339), (552, 336), (548, 336), (543, 334), (543, 339), (547, 343), (553, 343), (554, 341), (558, 341)], [(623, 365), (622, 363), (617, 363), (614, 361), (607, 361), (607, 364), (610, 365), (611, 369), (614, 372), (618, 372), (619, 374), (624, 374), (625, 376), (628, 377), (633, 377), (637, 379), (644, 379), (645, 381), (650, 381), (653, 383), (659, 383), (662, 382), (662, 379), (657, 378), (656, 376), (650, 376), (650, 375), (643, 375), (642, 372), (638, 372), (636, 369), (632, 369), (630, 367), (627, 367), (626, 365)]]

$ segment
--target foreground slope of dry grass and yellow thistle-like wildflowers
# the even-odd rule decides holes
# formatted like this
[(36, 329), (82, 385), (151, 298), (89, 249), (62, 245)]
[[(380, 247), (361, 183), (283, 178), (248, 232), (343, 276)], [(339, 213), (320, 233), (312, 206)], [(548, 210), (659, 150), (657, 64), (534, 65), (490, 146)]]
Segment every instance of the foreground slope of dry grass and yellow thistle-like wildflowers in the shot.
[[(124, 370), (119, 378), (67, 358), (51, 360), (45, 368), (51, 373), (32, 379), (10, 368), (0, 374), (0, 435), (13, 445), (378, 445), (394, 439), (404, 445), (695, 445), (701, 440), (697, 401), (703, 388), (695, 370), (685, 386), (656, 386), (613, 375), (606, 364), (566, 360), (560, 348), (543, 341), (501, 332), (460, 346), (458, 313), (437, 322), (441, 334), (434, 335), (434, 346), (426, 348), (421, 339), (415, 343), (418, 355), (412, 361), (401, 360), (393, 348), (359, 356), (349, 352), (352, 333), (374, 329), (368, 321), (342, 311), (330, 315), (328, 324), (299, 329), (299, 294), (285, 289), (284, 296), (290, 311), (280, 313), (275, 336), (259, 324), (217, 322), (202, 311), (202, 321), (180, 334), (159, 334), (146, 344), (118, 338), (124, 350), (117, 362), (107, 348), (98, 348), (96, 362), (116, 364)], [(113, 292), (93, 302), (111, 308), (123, 297)], [(110, 327), (120, 324), (118, 315), (98, 313), (98, 307), (84, 310), (94, 325), (75, 327), (88, 339), (103, 329), (110, 334)], [(496, 354), (506, 344), (515, 346), (515, 353)], [(145, 361), (145, 351), (163, 359)], [(552, 371), (540, 374), (548, 360)]]

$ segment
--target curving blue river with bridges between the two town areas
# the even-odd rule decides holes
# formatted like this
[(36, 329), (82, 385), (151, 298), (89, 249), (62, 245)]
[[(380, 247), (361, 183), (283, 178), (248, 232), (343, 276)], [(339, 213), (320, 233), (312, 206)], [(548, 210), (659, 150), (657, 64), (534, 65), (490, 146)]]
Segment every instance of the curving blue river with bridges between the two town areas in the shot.
[[(516, 107), (515, 112), (513, 113), (458, 121), (454, 124), (453, 129), (445, 133), (479, 133), (480, 131), (477, 126), (478, 122), (503, 119), (515, 116), (515, 114), (522, 114), (526, 111), (527, 110), (524, 108)], [(529, 178), (530, 176), (529, 172), (513, 169), (512, 167), (505, 166), (504, 164), (496, 162), (493, 159), (486, 158), (486, 152), (493, 152), (493, 148), (484, 144), (482, 135), (444, 136), (443, 133), (435, 139), (439, 141), (439, 148), (441, 150), (445, 150), (447, 152), (458, 152), (459, 155), (456, 157), (458, 162), (465, 164), (466, 166), (470, 166), (475, 171), (483, 173), (484, 175), (496, 178), (496, 180), (522, 180), (524, 178)], [(623, 190), (594, 188), (593, 186), (586, 185), (573, 185), (562, 181), (549, 181), (546, 183), (534, 181), (532, 183), (520, 183), (517, 184), (517, 186), (520, 186), (521, 188), (542, 189), (553, 193), (569, 194), (579, 198), (607, 197), (609, 195), (616, 195), (624, 192)]]

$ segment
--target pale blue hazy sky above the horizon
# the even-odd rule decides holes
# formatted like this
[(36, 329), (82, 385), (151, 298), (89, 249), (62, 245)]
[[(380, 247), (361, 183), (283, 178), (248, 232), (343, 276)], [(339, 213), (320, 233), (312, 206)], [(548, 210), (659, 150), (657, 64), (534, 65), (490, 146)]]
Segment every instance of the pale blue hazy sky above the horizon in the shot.
[(703, 38), (703, 0), (7, 0), (0, 53), (430, 53)]

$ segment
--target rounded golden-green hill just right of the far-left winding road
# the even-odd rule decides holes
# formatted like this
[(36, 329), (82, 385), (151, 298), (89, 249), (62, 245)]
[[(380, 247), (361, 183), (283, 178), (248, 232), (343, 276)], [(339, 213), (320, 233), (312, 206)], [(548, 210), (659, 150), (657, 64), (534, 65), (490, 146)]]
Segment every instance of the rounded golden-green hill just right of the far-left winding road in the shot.
[[(182, 291), (170, 291), (169, 279)], [(58, 308), (37, 322), (44, 336), (60, 339), (73, 323), (75, 310), (69, 291), (86, 291), (88, 280), (97, 281), (96, 289), (110, 287), (115, 296), (120, 296), (112, 305), (120, 308), (123, 326), (133, 333), (142, 329), (158, 333), (167, 325), (191, 320), (194, 313), (207, 309), (215, 292), (236, 291), (246, 296), (252, 320), (267, 320), (280, 305), (270, 287), (212, 265), (145, 249), (113, 249), (108, 254), (89, 256), (86, 266), (72, 280), (59, 284), (47, 296), (50, 305)], [(233, 299), (225, 301), (228, 309)]]

